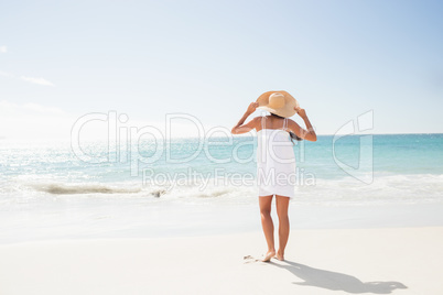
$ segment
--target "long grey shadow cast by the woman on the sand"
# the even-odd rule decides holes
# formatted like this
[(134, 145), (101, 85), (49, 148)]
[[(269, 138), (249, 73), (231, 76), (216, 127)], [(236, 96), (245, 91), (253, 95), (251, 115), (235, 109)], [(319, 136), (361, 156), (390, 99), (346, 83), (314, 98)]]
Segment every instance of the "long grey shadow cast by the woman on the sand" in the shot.
[(281, 269), (285, 269), (300, 277), (304, 282), (293, 283), (304, 286), (314, 286), (328, 288), (332, 291), (344, 291), (347, 293), (375, 293), (375, 294), (389, 294), (397, 288), (408, 288), (400, 282), (367, 282), (364, 283), (355, 276), (336, 273), (325, 270), (314, 269), (300, 263), (284, 261), (285, 264), (278, 264), (271, 262)]

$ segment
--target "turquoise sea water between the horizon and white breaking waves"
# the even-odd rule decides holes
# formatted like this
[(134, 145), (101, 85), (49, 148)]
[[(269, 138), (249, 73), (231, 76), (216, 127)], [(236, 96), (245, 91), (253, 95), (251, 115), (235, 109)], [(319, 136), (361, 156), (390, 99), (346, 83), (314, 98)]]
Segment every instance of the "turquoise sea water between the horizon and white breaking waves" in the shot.
[[(443, 134), (369, 136), (350, 135), (334, 142), (334, 136), (323, 135), (316, 142), (298, 142), (294, 153), (300, 186), (310, 185), (302, 182), (303, 176), (315, 183), (347, 181), (367, 186), (379, 181), (389, 185), (389, 179), (409, 177), (410, 189), (432, 179), (441, 183)], [(115, 184), (122, 189), (120, 193), (126, 187), (130, 194), (138, 189), (149, 193), (149, 186), (180, 186), (171, 183), (174, 177), (187, 185), (214, 177), (225, 177), (228, 183), (229, 177), (253, 178), (256, 138), (230, 140), (176, 139), (118, 146), (112, 142), (84, 142), (79, 144), (82, 151), (73, 151), (69, 142), (4, 142), (0, 148), (1, 193), (44, 193), (45, 185), (78, 188), (82, 193), (83, 187), (94, 184), (109, 187), (109, 192), (101, 193), (119, 193), (110, 189)], [(360, 175), (367, 179), (359, 181)], [(429, 189), (432, 194), (433, 187)], [(89, 192), (85, 188), (85, 193)]]

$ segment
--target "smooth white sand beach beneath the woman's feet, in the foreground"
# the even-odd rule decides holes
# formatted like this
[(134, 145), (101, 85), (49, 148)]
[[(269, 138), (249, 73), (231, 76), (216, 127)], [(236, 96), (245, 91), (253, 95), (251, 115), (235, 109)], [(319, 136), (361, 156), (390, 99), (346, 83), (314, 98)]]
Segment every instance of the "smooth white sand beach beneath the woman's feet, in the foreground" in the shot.
[(0, 247), (0, 294), (443, 294), (443, 228), (292, 230)]

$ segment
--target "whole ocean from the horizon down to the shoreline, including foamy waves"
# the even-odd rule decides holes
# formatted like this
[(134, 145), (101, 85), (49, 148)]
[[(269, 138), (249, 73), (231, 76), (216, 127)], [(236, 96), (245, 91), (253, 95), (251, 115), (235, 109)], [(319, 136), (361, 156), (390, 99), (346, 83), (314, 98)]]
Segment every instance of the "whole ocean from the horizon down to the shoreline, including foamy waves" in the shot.
[[(260, 229), (251, 135), (0, 146), (3, 243)], [(318, 135), (293, 148), (291, 225), (361, 226), (388, 207), (443, 222), (443, 134)], [(380, 223), (401, 221), (387, 216)]]

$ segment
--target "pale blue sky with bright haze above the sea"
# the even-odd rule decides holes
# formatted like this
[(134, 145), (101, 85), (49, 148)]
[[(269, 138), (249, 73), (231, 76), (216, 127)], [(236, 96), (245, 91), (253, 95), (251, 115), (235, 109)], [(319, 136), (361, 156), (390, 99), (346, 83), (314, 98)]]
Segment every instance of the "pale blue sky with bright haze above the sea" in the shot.
[(442, 14), (406, 0), (3, 1), (0, 136), (19, 121), (64, 135), (109, 110), (230, 129), (279, 89), (318, 134), (370, 110), (374, 133), (443, 132)]

